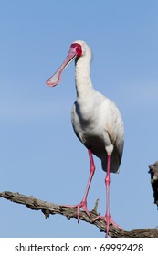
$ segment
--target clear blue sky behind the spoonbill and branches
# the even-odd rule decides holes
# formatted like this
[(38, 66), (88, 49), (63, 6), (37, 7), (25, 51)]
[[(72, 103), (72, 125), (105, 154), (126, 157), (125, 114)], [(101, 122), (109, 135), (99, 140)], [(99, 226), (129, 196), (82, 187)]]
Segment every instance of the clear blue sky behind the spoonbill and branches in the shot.
[[(0, 2), (1, 191), (77, 204), (89, 176), (86, 148), (73, 133), (74, 65), (56, 88), (46, 80), (70, 44), (93, 51), (95, 89), (117, 103), (125, 126), (119, 175), (111, 175), (111, 217), (123, 229), (158, 225), (148, 165), (158, 160), (158, 2)], [(88, 207), (100, 198), (105, 213), (105, 173), (95, 157)], [(104, 237), (96, 227), (0, 200), (0, 237)]]

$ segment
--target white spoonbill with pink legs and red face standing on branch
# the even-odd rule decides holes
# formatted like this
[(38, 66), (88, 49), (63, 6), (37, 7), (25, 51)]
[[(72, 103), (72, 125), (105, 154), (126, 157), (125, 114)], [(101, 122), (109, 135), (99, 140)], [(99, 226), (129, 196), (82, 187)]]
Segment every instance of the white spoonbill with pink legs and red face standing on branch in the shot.
[[(106, 221), (106, 236), (108, 237), (109, 226), (121, 229), (110, 215), (110, 172), (117, 173), (121, 164), (121, 156), (124, 144), (124, 129), (121, 113), (115, 103), (94, 90), (90, 80), (90, 63), (92, 53), (88, 44), (78, 40), (71, 44), (68, 56), (57, 72), (47, 80), (48, 86), (56, 86), (61, 78), (62, 71), (75, 59), (75, 83), (77, 101), (75, 101), (71, 121), (74, 132), (80, 142), (84, 144), (90, 157), (90, 176), (84, 197), (77, 206), (77, 218), (79, 221), (79, 208), (83, 208), (90, 216), (87, 208), (87, 197), (91, 179), (95, 172), (93, 155), (101, 160), (102, 169), (107, 172), (106, 184), (106, 214), (96, 219)], [(95, 219), (94, 219), (95, 220)]]

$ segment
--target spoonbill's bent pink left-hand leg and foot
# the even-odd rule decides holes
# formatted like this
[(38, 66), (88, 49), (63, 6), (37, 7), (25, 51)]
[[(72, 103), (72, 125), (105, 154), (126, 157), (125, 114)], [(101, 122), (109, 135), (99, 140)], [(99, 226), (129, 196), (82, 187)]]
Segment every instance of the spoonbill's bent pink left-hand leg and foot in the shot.
[(89, 157), (90, 157), (90, 176), (89, 176), (89, 180), (88, 180), (88, 184), (87, 184), (87, 187), (86, 187), (84, 197), (78, 205), (76, 205), (76, 206), (67, 206), (69, 208), (77, 208), (78, 222), (79, 222), (79, 208), (83, 208), (86, 211), (86, 213), (90, 216), (90, 212), (87, 208), (87, 197), (88, 197), (88, 194), (89, 194), (91, 180), (92, 180), (92, 177), (93, 177), (94, 172), (95, 172), (95, 165), (94, 165), (93, 155), (92, 155), (90, 149), (88, 150), (88, 153), (89, 153)]

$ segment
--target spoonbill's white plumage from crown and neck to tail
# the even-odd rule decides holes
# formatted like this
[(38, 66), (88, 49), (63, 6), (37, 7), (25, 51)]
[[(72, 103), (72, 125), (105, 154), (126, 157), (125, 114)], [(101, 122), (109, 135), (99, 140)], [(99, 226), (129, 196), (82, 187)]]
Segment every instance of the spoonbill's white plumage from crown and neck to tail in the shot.
[(99, 91), (95, 91), (90, 80), (91, 51), (83, 41), (83, 56), (76, 59), (76, 89), (71, 121), (76, 135), (94, 155), (101, 159), (106, 171), (107, 155), (111, 155), (111, 172), (117, 172), (121, 163), (124, 130), (121, 113), (115, 103)]

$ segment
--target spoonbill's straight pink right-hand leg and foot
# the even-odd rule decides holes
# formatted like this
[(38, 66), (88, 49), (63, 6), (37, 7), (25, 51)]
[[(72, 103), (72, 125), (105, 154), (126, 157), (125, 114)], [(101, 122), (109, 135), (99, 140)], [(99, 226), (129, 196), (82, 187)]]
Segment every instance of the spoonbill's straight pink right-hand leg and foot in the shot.
[(105, 177), (105, 186), (106, 186), (106, 214), (104, 217), (98, 216), (96, 219), (104, 219), (106, 221), (106, 237), (108, 238), (109, 230), (110, 230), (110, 224), (117, 227), (118, 229), (121, 229), (119, 225), (117, 225), (113, 219), (111, 219), (110, 215), (110, 183), (111, 183), (111, 177), (110, 177), (110, 166), (111, 166), (111, 155), (108, 155), (108, 163), (107, 163), (107, 174)]

